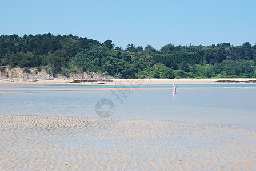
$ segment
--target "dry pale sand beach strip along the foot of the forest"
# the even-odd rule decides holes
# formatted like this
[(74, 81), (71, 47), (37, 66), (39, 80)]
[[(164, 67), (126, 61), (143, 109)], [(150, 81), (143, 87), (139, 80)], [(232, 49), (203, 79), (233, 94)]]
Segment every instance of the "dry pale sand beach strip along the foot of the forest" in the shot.
[[(249, 81), (253, 81), (249, 83)], [(33, 81), (10, 81), (0, 79), (0, 87), (33, 87), (33, 86), (115, 86), (115, 84), (133, 85), (155, 84), (155, 85), (171, 85), (171, 84), (256, 84), (255, 78), (236, 78), (236, 79), (113, 79), (113, 82), (97, 82), (97, 83), (68, 83), (70, 80), (38, 80)]]

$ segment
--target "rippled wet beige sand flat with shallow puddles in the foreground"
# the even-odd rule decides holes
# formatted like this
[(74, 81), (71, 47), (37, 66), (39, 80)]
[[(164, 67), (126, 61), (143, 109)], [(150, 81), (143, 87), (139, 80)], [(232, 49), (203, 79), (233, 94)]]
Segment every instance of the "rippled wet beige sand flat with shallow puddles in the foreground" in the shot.
[(256, 132), (227, 125), (0, 115), (0, 170), (256, 169)]

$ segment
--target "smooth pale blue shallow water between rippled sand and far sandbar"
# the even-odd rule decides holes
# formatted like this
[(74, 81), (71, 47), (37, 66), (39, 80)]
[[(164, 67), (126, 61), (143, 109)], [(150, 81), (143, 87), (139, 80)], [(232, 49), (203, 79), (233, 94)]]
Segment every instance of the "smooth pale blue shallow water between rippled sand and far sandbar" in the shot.
[[(218, 86), (229, 87), (226, 85), (230, 84)], [(250, 87), (248, 85), (250, 84), (242, 87)], [(256, 128), (256, 88), (178, 89), (176, 96), (171, 94), (171, 89), (129, 90), (123, 94), (118, 90), (8, 91), (6, 89), (6, 92), (21, 93), (0, 95), (1, 115), (99, 117), (95, 112), (95, 105), (99, 100), (107, 98), (115, 105), (114, 113), (110, 116), (114, 119), (235, 124)], [(118, 93), (119, 96), (115, 96)]]

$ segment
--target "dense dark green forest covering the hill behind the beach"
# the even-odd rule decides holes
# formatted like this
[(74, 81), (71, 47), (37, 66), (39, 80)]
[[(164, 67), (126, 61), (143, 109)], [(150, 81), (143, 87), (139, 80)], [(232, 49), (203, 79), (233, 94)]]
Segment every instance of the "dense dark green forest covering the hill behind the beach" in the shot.
[(118, 78), (251, 78), (256, 76), (256, 44), (174, 46), (160, 51), (152, 46), (128, 44), (124, 49), (111, 40), (73, 35), (1, 35), (0, 70), (35, 67), (52, 75), (94, 71)]

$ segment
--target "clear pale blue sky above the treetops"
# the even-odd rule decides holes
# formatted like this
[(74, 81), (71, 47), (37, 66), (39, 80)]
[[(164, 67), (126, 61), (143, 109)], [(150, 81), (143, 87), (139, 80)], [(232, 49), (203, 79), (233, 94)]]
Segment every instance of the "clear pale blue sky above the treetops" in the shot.
[(256, 43), (255, 0), (0, 0), (0, 35), (77, 35), (115, 46)]

